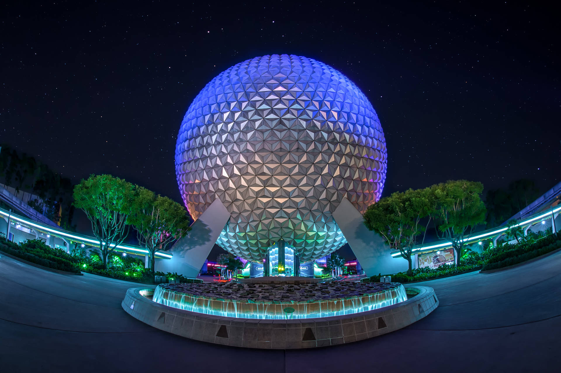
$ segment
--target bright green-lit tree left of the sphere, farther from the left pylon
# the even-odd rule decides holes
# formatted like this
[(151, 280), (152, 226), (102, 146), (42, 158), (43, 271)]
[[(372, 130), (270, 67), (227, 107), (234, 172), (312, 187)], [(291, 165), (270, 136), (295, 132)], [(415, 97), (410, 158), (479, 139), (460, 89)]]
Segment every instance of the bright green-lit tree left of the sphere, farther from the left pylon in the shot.
[(128, 216), (135, 201), (131, 183), (111, 175), (91, 175), (74, 186), (74, 206), (86, 213), (91, 229), (99, 241), (103, 268), (107, 255), (125, 241), (130, 226)]

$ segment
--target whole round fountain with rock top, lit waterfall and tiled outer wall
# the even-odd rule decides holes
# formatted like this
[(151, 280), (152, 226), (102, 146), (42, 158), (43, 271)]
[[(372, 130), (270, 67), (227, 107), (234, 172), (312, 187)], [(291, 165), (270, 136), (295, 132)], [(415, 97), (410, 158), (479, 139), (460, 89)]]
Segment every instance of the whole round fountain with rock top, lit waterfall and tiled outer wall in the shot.
[(433, 288), (426, 286), (263, 281), (130, 288), (121, 306), (134, 318), (182, 337), (279, 349), (376, 337), (406, 327), (438, 306)]

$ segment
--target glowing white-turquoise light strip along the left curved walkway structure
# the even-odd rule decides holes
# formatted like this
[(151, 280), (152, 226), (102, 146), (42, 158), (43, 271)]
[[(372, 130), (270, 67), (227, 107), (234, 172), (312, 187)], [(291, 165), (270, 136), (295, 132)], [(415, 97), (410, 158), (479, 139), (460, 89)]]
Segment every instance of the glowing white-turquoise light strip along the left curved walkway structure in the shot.
[[(89, 246), (96, 246), (99, 248), (100, 244), (99, 244), (99, 240), (96, 239), (95, 237), (92, 236), (85, 236), (85, 235), (79, 235), (77, 233), (74, 232), (70, 232), (64, 229), (59, 229), (59, 228), (53, 228), (53, 227), (49, 227), (43, 224), (40, 224), (39, 222), (34, 222), (34, 221), (29, 221), (24, 217), (21, 217), (19, 215), (16, 215), (14, 213), (10, 213), (8, 211), (6, 211), (3, 208), (0, 208), (0, 216), (6, 216), (6, 218), (8, 218), (8, 216), (10, 217), (10, 220), (13, 221), (17, 221), (20, 222), (24, 225), (28, 225), (33, 227), (36, 230), (48, 233), (48, 234), (53, 234), (54, 236), (60, 236), (60, 237), (65, 237), (67, 239), (71, 239), (72, 241), (76, 241), (82, 244), (87, 244)], [(8, 222), (8, 224), (10, 224), (10, 222)], [(103, 243), (105, 244), (105, 243)], [(109, 247), (114, 247), (114, 244), (109, 245)], [(136, 254), (136, 255), (146, 255), (149, 253), (148, 250), (142, 248), (141, 246), (135, 246), (135, 245), (117, 245), (114, 249), (115, 251), (121, 251), (121, 252), (129, 252), (131, 254)], [(155, 257), (157, 258), (162, 258), (162, 259), (171, 259), (173, 258), (173, 254), (169, 254), (169, 253), (164, 253), (163, 251), (156, 251), (155, 253)]]

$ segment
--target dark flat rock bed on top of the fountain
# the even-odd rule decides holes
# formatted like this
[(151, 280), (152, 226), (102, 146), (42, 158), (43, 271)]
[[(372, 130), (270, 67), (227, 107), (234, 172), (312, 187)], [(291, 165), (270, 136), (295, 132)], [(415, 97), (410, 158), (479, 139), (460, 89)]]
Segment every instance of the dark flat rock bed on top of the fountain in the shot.
[(158, 285), (175, 293), (209, 299), (235, 300), (248, 303), (298, 303), (345, 300), (387, 292), (401, 286), (392, 283), (328, 282), (318, 284), (251, 284), (251, 283), (170, 283)]

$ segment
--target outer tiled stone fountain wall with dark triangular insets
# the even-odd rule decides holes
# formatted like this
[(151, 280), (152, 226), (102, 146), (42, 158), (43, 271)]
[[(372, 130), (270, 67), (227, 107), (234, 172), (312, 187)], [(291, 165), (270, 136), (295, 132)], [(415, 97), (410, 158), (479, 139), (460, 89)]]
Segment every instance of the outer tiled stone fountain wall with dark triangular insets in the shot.
[(132, 317), (181, 337), (223, 346), (310, 348), (360, 341), (393, 332), (424, 318), (438, 306), (434, 290), (407, 286), (410, 299), (358, 314), (312, 319), (244, 319), (181, 310), (152, 301), (154, 289), (131, 288), (121, 306)]

